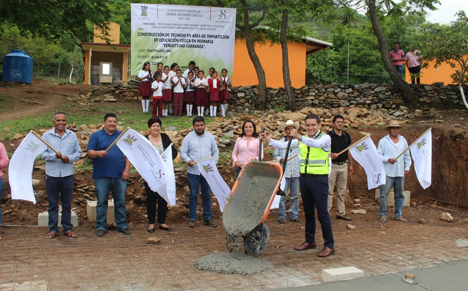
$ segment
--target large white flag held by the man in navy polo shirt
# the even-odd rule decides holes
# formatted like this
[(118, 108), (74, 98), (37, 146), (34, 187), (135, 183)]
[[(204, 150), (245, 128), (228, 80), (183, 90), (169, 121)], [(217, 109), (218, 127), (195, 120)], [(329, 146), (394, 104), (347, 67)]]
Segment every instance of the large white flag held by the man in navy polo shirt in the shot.
[(169, 170), (161, 155), (146, 137), (129, 128), (116, 145), (151, 190), (158, 192), (166, 185)]

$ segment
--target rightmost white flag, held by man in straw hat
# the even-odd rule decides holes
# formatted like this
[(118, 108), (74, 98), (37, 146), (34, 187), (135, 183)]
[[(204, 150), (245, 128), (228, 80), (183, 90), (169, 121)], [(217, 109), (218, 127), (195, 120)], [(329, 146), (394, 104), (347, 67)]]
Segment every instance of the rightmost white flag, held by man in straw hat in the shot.
[(423, 189), (431, 184), (432, 178), (432, 131), (428, 130), (425, 134), (409, 147), (414, 161), (414, 170), (416, 177)]

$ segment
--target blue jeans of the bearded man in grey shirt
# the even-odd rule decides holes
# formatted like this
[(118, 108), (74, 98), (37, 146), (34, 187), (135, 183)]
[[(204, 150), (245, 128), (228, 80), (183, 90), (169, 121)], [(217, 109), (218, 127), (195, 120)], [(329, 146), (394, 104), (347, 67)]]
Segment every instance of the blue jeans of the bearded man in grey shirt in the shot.
[(201, 185), (201, 204), (203, 206), (203, 219), (211, 219), (211, 188), (201, 175), (187, 173), (189, 180), (189, 217), (196, 220), (196, 206), (198, 204), (198, 189)]

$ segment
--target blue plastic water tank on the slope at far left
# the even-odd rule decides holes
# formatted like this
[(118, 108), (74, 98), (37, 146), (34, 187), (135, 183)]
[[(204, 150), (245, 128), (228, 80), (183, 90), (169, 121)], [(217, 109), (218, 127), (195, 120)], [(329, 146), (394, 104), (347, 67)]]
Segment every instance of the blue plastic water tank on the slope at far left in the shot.
[(33, 83), (33, 58), (21, 50), (3, 57), (3, 82)]

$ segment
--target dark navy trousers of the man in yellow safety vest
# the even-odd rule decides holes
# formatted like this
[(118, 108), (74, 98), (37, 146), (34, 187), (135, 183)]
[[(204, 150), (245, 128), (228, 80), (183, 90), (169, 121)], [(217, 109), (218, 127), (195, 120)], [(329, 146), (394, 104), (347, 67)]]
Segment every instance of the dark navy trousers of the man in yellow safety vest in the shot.
[(306, 217), (306, 242), (315, 242), (315, 208), (320, 225), (324, 246), (333, 248), (330, 213), (328, 212), (328, 176), (299, 177), (302, 204)]

